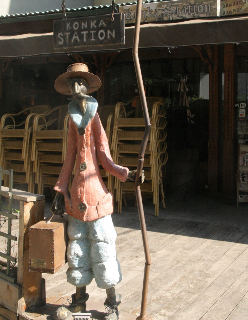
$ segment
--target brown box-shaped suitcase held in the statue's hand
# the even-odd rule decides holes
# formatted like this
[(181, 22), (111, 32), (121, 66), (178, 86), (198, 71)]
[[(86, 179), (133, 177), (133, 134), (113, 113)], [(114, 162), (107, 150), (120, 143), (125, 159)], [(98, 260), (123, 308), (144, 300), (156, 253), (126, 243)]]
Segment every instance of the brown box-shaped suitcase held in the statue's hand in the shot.
[(29, 228), (30, 271), (55, 273), (67, 262), (67, 214), (48, 219)]

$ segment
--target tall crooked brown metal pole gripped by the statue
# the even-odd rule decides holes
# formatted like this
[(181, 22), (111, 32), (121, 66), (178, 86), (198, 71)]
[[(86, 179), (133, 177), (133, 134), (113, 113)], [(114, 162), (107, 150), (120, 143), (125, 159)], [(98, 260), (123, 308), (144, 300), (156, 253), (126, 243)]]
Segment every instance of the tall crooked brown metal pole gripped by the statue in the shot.
[(151, 316), (146, 314), (151, 257), (150, 257), (150, 250), (149, 250), (149, 244), (148, 244), (148, 238), (147, 238), (147, 232), (146, 232), (143, 202), (142, 202), (142, 196), (140, 191), (140, 177), (142, 174), (142, 168), (144, 163), (145, 149), (146, 149), (147, 141), (151, 131), (150, 117), (148, 113), (145, 90), (143, 85), (141, 69), (140, 69), (139, 57), (138, 57), (141, 9), (142, 9), (142, 1), (138, 0), (137, 8), (136, 8), (135, 28), (134, 28), (133, 60), (134, 60), (136, 78), (137, 78), (137, 83), (139, 88), (141, 106), (142, 106), (144, 120), (145, 120), (145, 131), (144, 131), (144, 136), (143, 136), (143, 140), (142, 140), (141, 148), (139, 152), (139, 161), (138, 161), (137, 174), (136, 174), (136, 180), (135, 180), (135, 193), (136, 193), (141, 234), (142, 234), (143, 247), (144, 247), (144, 253), (145, 253), (145, 269), (144, 269), (144, 278), (143, 278), (143, 290), (142, 290), (140, 316), (138, 316), (136, 320), (149, 320), (149, 319), (152, 320)]

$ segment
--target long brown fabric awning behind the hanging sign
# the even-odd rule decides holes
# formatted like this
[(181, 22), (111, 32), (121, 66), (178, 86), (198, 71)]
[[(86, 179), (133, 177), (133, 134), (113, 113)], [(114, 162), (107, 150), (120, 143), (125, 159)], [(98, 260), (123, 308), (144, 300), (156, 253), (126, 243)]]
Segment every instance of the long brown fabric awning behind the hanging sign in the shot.
[[(170, 23), (143, 24), (140, 28), (140, 48), (165, 48), (206, 44), (248, 42), (248, 16), (195, 19)], [(131, 49), (134, 26), (125, 27), (124, 45), (81, 47), (73, 52), (101, 52)], [(53, 49), (53, 33), (0, 36), (0, 57), (27, 57), (72, 53), (69, 49)]]

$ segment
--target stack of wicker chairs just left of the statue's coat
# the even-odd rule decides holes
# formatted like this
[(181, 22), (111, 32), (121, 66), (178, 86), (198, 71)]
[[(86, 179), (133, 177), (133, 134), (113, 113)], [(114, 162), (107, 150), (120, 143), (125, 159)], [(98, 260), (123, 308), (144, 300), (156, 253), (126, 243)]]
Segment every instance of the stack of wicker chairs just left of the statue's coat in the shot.
[(68, 104), (53, 108), (46, 115), (35, 116), (31, 159), (38, 194), (43, 194), (44, 187), (53, 187), (58, 180), (66, 155), (68, 120)]

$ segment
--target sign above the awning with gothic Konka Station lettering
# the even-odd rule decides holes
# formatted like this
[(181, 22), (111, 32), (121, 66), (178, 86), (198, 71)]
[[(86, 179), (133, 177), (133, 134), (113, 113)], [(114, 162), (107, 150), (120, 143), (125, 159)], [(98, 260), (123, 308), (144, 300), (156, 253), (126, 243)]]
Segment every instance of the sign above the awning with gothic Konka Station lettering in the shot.
[[(135, 22), (136, 4), (120, 6), (119, 12), (125, 14), (126, 24)], [(141, 22), (163, 22), (177, 19), (216, 17), (219, 15), (220, 0), (162, 1), (142, 4)]]

